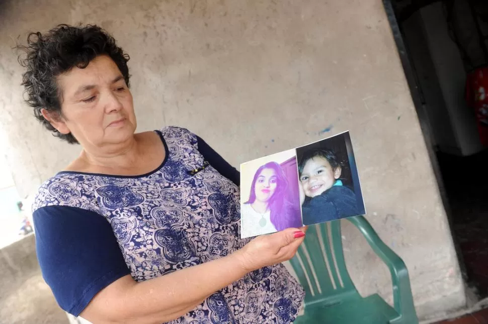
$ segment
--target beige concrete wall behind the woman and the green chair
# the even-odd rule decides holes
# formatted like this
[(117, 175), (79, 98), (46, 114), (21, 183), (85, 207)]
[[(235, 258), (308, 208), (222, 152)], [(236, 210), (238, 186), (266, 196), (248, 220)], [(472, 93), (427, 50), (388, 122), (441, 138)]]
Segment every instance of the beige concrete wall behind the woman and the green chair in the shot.
[[(368, 219), (409, 267), (421, 317), (465, 303), (417, 115), (380, 0), (6, 1), (0, 109), (24, 194), (79, 148), (43, 131), (21, 101), (11, 51), (29, 30), (97, 23), (131, 55), (139, 130), (187, 127), (234, 165), (349, 129)], [(344, 223), (359, 290), (388, 300), (386, 267)]]

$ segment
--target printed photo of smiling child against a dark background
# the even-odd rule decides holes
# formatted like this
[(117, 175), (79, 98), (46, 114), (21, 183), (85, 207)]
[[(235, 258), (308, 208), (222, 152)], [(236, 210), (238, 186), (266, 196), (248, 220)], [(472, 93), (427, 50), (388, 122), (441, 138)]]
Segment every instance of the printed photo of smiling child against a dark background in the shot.
[(303, 225), (365, 214), (349, 132), (296, 149)]

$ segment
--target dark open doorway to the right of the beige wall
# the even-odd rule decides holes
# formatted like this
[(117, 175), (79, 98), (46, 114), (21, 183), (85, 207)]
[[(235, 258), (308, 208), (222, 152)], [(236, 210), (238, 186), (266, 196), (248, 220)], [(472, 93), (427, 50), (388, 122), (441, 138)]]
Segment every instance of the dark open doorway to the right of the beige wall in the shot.
[(464, 279), (478, 298), (488, 297), (488, 150), (466, 91), (470, 74), (488, 64), (488, 2), (383, 3)]

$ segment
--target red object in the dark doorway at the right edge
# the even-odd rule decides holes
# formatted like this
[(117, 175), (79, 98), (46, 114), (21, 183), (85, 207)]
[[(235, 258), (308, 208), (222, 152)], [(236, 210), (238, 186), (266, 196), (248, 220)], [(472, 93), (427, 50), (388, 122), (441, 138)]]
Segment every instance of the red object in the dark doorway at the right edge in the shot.
[(488, 147), (488, 67), (475, 69), (467, 75), (466, 101), (476, 113), (481, 143)]

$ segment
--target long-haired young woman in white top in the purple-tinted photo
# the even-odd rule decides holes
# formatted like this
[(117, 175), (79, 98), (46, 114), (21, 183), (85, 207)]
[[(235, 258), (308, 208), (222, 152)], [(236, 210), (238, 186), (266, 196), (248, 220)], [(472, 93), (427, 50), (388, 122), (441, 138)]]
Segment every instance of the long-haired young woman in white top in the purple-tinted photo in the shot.
[(255, 173), (249, 200), (242, 204), (242, 237), (274, 233), (300, 227), (300, 207), (289, 201), (285, 173), (276, 162), (268, 162)]

